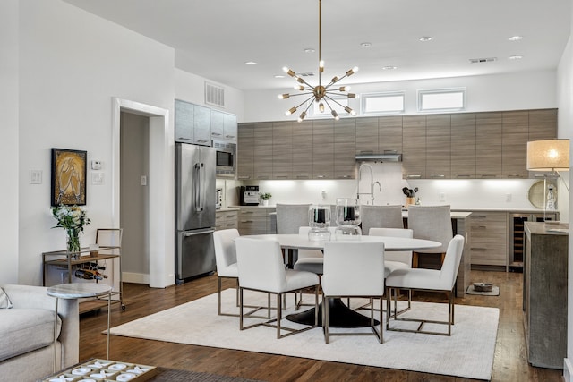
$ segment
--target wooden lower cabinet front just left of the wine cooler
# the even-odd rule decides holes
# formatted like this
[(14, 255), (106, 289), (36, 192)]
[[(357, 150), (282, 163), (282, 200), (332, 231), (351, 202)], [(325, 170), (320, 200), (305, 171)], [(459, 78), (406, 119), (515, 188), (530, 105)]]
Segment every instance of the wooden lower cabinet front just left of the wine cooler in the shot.
[(507, 219), (506, 212), (474, 212), (469, 216), (472, 264), (507, 266)]

